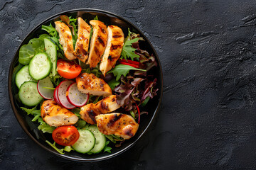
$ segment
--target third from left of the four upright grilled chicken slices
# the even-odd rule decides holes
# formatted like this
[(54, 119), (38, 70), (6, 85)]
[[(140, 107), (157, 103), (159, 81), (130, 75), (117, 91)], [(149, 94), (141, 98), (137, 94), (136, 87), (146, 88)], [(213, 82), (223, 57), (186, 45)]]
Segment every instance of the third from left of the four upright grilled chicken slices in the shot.
[(90, 67), (96, 67), (100, 62), (103, 52), (107, 43), (107, 26), (104, 23), (97, 20), (91, 20), (92, 25), (92, 39), (90, 40), (90, 52), (87, 60), (87, 64)]

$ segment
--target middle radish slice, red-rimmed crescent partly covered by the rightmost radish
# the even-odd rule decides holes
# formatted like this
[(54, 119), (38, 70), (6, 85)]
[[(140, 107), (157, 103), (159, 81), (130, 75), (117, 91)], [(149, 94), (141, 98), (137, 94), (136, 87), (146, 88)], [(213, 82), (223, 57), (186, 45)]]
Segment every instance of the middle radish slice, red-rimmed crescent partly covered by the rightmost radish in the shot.
[(74, 81), (71, 80), (64, 80), (61, 81), (60, 84), (58, 85), (58, 100), (60, 101), (61, 105), (64, 108), (68, 108), (68, 109), (73, 109), (75, 108), (75, 106), (73, 106), (71, 103), (69, 103), (68, 98), (66, 96), (66, 91), (68, 90), (68, 86), (70, 86), (70, 84), (73, 84)]

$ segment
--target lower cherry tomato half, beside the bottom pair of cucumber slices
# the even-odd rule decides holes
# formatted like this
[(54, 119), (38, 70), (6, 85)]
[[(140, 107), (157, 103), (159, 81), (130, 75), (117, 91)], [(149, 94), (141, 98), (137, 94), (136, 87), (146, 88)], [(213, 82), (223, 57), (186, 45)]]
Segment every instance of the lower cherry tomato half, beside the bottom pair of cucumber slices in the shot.
[(62, 146), (74, 145), (78, 141), (79, 132), (73, 125), (60, 126), (53, 130), (53, 140)]

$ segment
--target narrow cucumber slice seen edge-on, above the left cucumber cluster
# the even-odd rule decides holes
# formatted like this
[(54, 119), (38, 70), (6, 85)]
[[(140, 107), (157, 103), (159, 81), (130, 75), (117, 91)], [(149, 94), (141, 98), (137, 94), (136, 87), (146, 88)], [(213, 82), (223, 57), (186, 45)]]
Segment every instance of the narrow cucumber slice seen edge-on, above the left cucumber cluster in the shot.
[(43, 40), (45, 42), (46, 53), (49, 55), (50, 61), (53, 63), (52, 73), (53, 73), (53, 76), (55, 76), (55, 74), (57, 74), (57, 71), (56, 71), (56, 68), (57, 68), (56, 45), (53, 42), (51, 42), (51, 40), (49, 40), (48, 38), (44, 38)]

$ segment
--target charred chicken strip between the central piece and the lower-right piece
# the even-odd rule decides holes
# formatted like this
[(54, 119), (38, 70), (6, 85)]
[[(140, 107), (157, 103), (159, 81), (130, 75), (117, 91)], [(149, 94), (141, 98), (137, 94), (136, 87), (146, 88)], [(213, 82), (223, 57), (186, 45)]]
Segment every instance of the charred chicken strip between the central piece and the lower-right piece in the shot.
[(112, 111), (120, 108), (117, 104), (117, 96), (111, 95), (98, 101), (96, 104), (90, 103), (81, 107), (80, 115), (82, 120), (92, 125), (96, 124), (95, 116), (105, 113), (110, 113)]

